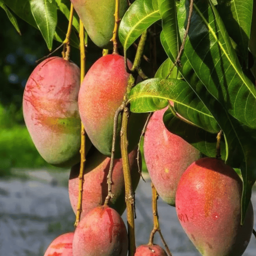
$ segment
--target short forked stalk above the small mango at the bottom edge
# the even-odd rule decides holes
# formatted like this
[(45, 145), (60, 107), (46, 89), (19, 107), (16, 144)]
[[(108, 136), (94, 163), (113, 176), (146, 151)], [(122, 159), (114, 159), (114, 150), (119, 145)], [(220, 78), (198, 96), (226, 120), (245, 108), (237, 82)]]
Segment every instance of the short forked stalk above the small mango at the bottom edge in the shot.
[(158, 221), (158, 211), (157, 211), (157, 200), (158, 200), (158, 193), (156, 191), (156, 188), (154, 186), (154, 184), (151, 182), (151, 188), (152, 188), (152, 213), (153, 213), (153, 223), (154, 223), (154, 227), (151, 231), (150, 234), (150, 238), (149, 238), (149, 242), (148, 242), (148, 246), (152, 246), (153, 242), (154, 242), (154, 234), (156, 234), (156, 232), (159, 233), (160, 238), (162, 240), (162, 243), (166, 249), (166, 252), (168, 253), (169, 256), (172, 256), (172, 253), (170, 252), (168, 245), (166, 244), (164, 237), (162, 235), (162, 232), (160, 230), (159, 227), (159, 221)]

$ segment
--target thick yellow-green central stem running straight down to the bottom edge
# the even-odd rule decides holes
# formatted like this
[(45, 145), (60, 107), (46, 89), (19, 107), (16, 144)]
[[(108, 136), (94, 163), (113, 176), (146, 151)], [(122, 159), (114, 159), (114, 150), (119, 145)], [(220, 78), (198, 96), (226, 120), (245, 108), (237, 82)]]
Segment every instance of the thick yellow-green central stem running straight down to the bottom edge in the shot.
[(128, 124), (129, 110), (127, 107), (124, 108), (122, 114), (122, 127), (121, 127), (121, 155), (123, 162), (124, 171), (124, 183), (125, 183), (125, 201), (127, 209), (127, 226), (129, 236), (129, 252), (128, 256), (134, 256), (135, 247), (135, 234), (134, 234), (134, 194), (132, 191), (132, 180), (130, 174), (129, 158), (127, 152), (127, 124)]

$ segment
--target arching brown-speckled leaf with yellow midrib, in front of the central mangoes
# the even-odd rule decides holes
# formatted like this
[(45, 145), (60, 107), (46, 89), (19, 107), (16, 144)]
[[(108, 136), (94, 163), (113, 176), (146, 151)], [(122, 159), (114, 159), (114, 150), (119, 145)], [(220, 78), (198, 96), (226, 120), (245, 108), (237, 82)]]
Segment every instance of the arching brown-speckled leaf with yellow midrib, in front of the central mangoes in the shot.
[(151, 112), (167, 106), (168, 101), (182, 105), (181, 116), (207, 130), (219, 132), (220, 128), (212, 114), (194, 93), (187, 82), (168, 78), (150, 78), (132, 88), (130, 110), (136, 113)]

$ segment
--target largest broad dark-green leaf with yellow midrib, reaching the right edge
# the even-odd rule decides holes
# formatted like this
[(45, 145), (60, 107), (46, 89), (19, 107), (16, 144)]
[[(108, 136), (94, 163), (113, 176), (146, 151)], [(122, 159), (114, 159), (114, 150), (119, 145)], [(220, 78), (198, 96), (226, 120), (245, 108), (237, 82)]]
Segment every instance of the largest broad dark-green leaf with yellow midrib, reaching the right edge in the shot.
[[(256, 89), (242, 72), (226, 28), (213, 5), (194, 3), (184, 54), (208, 91), (240, 122), (256, 128)], [(188, 11), (188, 10), (187, 10)], [(179, 19), (184, 32), (186, 13)]]

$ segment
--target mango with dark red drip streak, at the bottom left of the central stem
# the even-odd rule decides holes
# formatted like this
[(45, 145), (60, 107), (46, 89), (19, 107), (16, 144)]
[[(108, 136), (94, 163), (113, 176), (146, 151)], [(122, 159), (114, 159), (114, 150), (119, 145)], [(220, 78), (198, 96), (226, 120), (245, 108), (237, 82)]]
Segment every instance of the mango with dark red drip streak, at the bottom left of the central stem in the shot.
[(108, 206), (96, 207), (74, 232), (73, 256), (126, 256), (128, 234), (121, 216)]

